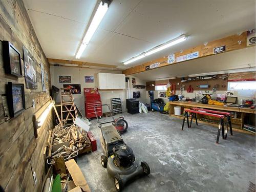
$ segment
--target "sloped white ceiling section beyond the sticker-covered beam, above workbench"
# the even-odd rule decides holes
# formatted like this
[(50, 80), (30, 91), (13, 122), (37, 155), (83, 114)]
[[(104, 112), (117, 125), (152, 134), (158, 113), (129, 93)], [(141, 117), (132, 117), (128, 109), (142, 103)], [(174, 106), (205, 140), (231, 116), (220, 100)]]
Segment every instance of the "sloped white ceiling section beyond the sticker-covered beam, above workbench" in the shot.
[(189, 74), (209, 73), (230, 69), (255, 67), (255, 47), (184, 61), (154, 70), (134, 74), (145, 81), (166, 77), (187, 77)]

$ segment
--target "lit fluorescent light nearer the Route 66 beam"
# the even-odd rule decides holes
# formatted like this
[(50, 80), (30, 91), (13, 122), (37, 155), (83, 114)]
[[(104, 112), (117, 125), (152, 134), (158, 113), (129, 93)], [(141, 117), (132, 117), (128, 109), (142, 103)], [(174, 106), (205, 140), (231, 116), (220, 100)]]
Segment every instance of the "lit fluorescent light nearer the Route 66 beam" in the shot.
[(186, 36), (185, 34), (184, 34), (184, 35), (181, 35), (181, 36), (179, 36), (178, 38), (175, 38), (175, 39), (173, 39), (173, 40), (170, 40), (170, 41), (166, 42), (165, 44), (162, 44), (162, 45), (160, 45), (160, 46), (158, 46), (158, 47), (156, 47), (156, 48), (153, 48), (153, 49), (151, 49), (151, 50), (148, 50), (148, 51), (146, 51), (145, 53), (143, 53), (143, 54), (141, 54), (141, 55), (139, 55), (139, 56), (136, 56), (136, 57), (131, 58), (131, 59), (129, 59), (129, 60), (123, 62), (123, 64), (124, 64), (124, 65), (127, 65), (127, 64), (129, 64), (129, 63), (131, 63), (131, 62), (134, 62), (134, 61), (136, 61), (136, 60), (139, 60), (139, 59), (141, 59), (141, 58), (143, 58), (143, 57), (145, 57), (145, 56), (152, 55), (152, 54), (154, 54), (154, 53), (156, 53), (156, 52), (162, 51), (163, 49), (166, 49), (166, 48), (168, 48), (168, 47), (171, 47), (171, 46), (174, 46), (174, 45), (176, 45), (176, 44), (179, 44), (180, 42), (182, 42), (182, 41), (184, 41), (184, 40), (186, 40), (186, 39), (187, 39), (187, 36)]

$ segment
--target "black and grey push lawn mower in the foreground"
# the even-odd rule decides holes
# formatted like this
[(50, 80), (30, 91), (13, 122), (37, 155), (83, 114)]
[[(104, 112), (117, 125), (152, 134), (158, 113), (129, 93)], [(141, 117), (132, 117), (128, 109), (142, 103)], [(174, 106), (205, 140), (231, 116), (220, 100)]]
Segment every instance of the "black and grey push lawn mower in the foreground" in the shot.
[[(102, 104), (101, 106), (110, 106)], [(150, 167), (146, 162), (139, 162), (131, 147), (126, 145), (113, 121), (101, 123), (94, 111), (99, 123), (100, 143), (104, 151), (104, 155), (100, 157), (101, 165), (108, 170), (109, 175), (114, 178), (114, 184), (117, 191), (121, 191), (125, 183), (133, 178), (150, 174)], [(112, 116), (113, 117), (113, 116)], [(113, 118), (114, 120), (114, 118)], [(106, 123), (111, 125), (102, 126)]]

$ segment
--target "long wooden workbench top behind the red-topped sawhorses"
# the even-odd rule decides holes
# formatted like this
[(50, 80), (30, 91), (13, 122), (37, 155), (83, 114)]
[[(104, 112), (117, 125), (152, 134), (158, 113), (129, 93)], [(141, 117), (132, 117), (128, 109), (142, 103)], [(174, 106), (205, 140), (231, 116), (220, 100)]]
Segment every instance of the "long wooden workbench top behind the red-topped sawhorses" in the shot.
[(239, 107), (236, 107), (236, 106), (223, 106), (223, 105), (213, 105), (213, 104), (202, 104), (202, 103), (191, 102), (191, 101), (169, 101), (169, 104), (255, 114), (255, 109), (239, 108)]

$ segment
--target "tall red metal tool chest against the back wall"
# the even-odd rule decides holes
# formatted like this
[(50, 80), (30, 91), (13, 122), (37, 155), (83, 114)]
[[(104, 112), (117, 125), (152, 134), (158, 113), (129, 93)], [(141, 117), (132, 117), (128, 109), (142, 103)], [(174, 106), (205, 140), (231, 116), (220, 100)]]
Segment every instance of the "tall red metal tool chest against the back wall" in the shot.
[[(94, 106), (101, 105), (100, 94), (98, 88), (84, 88), (84, 106), (86, 110), (86, 118), (96, 117)], [(102, 116), (101, 106), (97, 106), (96, 113), (98, 117)]]

